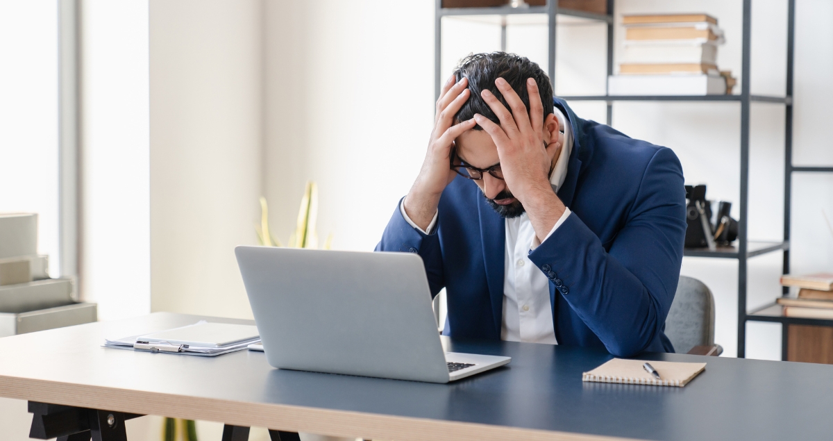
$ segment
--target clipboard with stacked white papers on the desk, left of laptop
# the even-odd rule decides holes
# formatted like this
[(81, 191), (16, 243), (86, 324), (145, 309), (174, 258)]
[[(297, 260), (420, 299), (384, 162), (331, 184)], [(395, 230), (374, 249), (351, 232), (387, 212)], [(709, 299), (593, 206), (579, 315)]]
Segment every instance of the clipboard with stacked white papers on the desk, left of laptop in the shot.
[(252, 343), (259, 342), (260, 336), (256, 326), (208, 323), (202, 320), (158, 333), (107, 338), (102, 347), (212, 357), (240, 351)]

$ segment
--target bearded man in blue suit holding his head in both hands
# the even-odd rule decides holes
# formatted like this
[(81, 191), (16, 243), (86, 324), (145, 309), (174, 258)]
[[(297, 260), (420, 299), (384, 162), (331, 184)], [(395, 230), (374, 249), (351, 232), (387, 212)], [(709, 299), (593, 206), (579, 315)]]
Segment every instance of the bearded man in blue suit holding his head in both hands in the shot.
[(377, 251), (419, 253), (431, 294), (446, 288), (446, 335), (673, 352), (680, 162), (552, 96), (526, 58), (464, 58)]

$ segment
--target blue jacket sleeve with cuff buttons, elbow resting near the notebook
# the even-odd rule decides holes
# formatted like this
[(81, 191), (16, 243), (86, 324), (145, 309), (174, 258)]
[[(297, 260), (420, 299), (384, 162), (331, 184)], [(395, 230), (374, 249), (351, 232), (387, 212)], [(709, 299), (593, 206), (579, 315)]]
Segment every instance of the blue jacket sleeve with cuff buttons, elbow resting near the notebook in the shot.
[(680, 162), (661, 148), (648, 163), (609, 251), (572, 213), (529, 258), (608, 352), (629, 356), (665, 327), (680, 278), (685, 210)]

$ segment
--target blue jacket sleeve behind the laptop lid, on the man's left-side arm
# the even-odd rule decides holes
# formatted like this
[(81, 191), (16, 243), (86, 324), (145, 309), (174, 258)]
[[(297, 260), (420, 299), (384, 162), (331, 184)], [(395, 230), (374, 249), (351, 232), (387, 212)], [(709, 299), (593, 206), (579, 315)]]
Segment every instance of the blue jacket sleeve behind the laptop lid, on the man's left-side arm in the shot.
[(433, 297), (445, 286), (440, 237), (437, 233), (440, 229), (439, 219), (431, 234), (422, 233), (402, 217), (402, 211), (399, 209), (401, 204), (402, 200), (397, 203), (397, 209), (388, 221), (385, 232), (382, 233), (382, 241), (376, 246), (376, 251), (419, 254), (422, 263), (425, 264), (428, 286), (431, 288), (431, 297)]

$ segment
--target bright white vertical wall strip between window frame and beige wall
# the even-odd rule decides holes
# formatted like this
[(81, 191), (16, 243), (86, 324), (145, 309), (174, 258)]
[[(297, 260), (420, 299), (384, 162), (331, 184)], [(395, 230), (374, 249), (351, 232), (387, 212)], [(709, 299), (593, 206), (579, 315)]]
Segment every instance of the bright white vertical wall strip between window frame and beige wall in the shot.
[(80, 286), (112, 320), (150, 312), (147, 1), (81, 11)]

